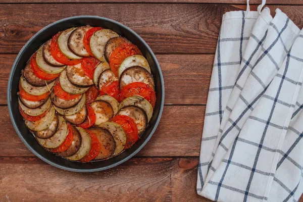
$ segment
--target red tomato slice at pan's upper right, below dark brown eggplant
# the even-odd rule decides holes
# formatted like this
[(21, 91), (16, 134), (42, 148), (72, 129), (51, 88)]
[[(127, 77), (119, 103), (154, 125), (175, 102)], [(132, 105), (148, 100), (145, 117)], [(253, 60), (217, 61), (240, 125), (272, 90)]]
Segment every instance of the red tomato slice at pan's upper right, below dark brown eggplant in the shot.
[(141, 55), (139, 48), (131, 43), (119, 45), (110, 56), (110, 67), (114, 74), (118, 76), (118, 68), (121, 63), (129, 56)]

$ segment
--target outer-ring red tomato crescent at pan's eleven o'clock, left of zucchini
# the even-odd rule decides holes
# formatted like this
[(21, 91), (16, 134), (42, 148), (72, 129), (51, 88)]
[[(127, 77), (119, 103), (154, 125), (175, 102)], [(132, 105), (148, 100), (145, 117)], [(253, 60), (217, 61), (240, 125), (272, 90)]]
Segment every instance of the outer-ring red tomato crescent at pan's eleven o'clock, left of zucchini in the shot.
[(65, 55), (63, 55), (60, 52), (59, 45), (58, 45), (58, 37), (62, 32), (58, 32), (55, 36), (53, 36), (53, 39), (51, 41), (51, 45), (49, 46), (49, 49), (51, 50), (51, 54), (55, 60), (57, 60), (59, 63), (65, 64), (65, 65), (77, 65), (81, 63), (80, 60), (70, 60)]

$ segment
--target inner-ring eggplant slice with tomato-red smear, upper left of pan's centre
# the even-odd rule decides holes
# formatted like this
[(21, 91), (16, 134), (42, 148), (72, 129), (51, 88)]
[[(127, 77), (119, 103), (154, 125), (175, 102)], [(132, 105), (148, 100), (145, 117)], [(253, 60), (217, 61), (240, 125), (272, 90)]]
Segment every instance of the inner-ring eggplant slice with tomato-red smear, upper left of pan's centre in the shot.
[(74, 66), (67, 66), (66, 75), (68, 80), (79, 87), (89, 87), (93, 85), (93, 80), (85, 75), (83, 69), (81, 68), (81, 63)]

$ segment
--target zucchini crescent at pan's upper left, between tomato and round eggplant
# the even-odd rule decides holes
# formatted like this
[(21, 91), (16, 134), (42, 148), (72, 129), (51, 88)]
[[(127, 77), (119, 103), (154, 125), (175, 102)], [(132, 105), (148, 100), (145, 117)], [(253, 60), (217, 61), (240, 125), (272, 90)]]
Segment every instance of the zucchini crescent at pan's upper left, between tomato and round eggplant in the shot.
[(79, 56), (76, 56), (75, 54), (73, 54), (68, 47), (68, 38), (75, 29), (76, 29), (75, 27), (67, 29), (67, 30), (63, 31), (58, 37), (58, 46), (59, 46), (60, 52), (63, 55), (65, 55), (68, 59), (71, 59), (71, 60), (78, 60), (78, 59), (82, 58), (82, 57), (79, 57)]

